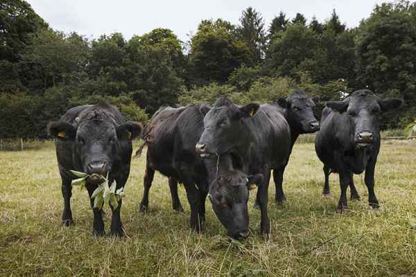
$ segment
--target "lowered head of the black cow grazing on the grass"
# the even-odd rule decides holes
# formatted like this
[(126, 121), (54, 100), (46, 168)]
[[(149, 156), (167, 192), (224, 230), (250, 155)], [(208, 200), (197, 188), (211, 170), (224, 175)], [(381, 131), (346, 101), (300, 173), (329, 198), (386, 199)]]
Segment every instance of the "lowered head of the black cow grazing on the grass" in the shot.
[(227, 235), (236, 240), (248, 237), (249, 189), (260, 184), (263, 175), (244, 175), (240, 170), (220, 172), (209, 186), (209, 199)]

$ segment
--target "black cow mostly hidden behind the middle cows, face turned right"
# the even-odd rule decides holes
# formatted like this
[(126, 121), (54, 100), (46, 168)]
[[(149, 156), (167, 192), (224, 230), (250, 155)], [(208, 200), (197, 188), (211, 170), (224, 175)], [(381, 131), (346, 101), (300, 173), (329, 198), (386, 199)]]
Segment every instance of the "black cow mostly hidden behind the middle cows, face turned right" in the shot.
[[(309, 98), (303, 91), (298, 89), (296, 89), (291, 96), (288, 96), (288, 98), (279, 98), (279, 100), (277, 100), (277, 104), (282, 107), (280, 112), (284, 118), (286, 118), (289, 127), (291, 128), (291, 150), (289, 155), (300, 134), (310, 134), (318, 131), (319, 122), (313, 115), (316, 101), (318, 101), (318, 98)], [(288, 160), (284, 166), (273, 170), (273, 179), (276, 186), (276, 204), (281, 204), (286, 199), (282, 183), (287, 163)]]

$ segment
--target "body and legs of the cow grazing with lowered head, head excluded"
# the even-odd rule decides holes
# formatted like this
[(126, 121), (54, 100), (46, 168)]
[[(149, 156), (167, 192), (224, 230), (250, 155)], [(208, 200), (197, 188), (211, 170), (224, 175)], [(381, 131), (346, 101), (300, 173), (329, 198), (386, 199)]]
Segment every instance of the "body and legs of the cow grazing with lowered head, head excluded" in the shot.
[(169, 177), (173, 208), (182, 210), (177, 198), (177, 181), (184, 184), (191, 206), (191, 228), (200, 231), (205, 221), (205, 199), (208, 193), (208, 175), (204, 161), (196, 154), (195, 145), (204, 128), (203, 118), (207, 105), (159, 109), (146, 127), (148, 144), (144, 196), (141, 211), (148, 209), (148, 192), (155, 170)]

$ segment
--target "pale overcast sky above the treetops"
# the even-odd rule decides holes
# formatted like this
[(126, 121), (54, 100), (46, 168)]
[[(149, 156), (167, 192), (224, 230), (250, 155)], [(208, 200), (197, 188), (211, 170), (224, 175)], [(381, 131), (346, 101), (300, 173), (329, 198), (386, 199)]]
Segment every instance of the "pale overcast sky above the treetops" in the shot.
[(87, 37), (123, 33), (126, 39), (154, 28), (169, 28), (182, 39), (195, 33), (202, 19), (222, 18), (237, 24), (241, 11), (252, 6), (268, 27), (280, 11), (288, 17), (301, 12), (307, 19), (328, 19), (335, 8), (348, 27), (358, 26), (381, 0), (28, 0), (49, 26)]

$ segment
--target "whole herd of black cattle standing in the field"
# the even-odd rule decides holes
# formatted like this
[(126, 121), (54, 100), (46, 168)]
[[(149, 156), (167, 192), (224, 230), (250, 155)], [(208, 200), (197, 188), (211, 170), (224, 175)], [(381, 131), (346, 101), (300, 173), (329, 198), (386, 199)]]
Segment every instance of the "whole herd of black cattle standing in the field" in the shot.
[[(282, 188), (284, 169), (297, 137), (305, 133), (318, 132), (315, 150), (324, 164), (324, 195), (329, 194), (329, 174), (339, 174), (338, 211), (347, 207), (348, 186), (351, 198), (359, 198), (353, 175), (364, 171), (369, 204), (377, 208), (379, 202), (374, 194), (374, 168), (380, 149), (377, 120), (381, 112), (397, 109), (402, 101), (383, 100), (369, 90), (355, 91), (344, 100), (327, 102), (320, 123), (313, 115), (314, 101), (315, 98), (299, 90), (265, 105), (237, 106), (227, 98), (218, 98), (212, 107), (207, 104), (162, 107), (145, 127), (126, 122), (111, 105), (73, 107), (48, 126), (49, 134), (55, 137), (62, 178), (62, 223), (73, 224), (71, 180), (76, 177), (69, 170), (108, 174), (110, 184), (116, 181), (119, 189), (128, 179), (132, 139), (138, 136), (148, 147), (140, 210), (148, 209), (148, 194), (157, 170), (168, 177), (174, 210), (183, 211), (177, 183), (184, 185), (191, 206), (191, 228), (196, 231), (202, 229), (205, 221), (208, 196), (227, 235), (246, 238), (249, 190), (257, 186), (261, 233), (268, 235), (271, 172), (276, 186), (275, 202), (280, 204), (286, 199)], [(94, 180), (87, 179), (90, 197), (97, 186)], [(112, 208), (112, 235), (123, 235), (121, 202), (120, 199), (119, 206)], [(102, 211), (94, 208), (94, 200), (91, 205), (94, 234), (103, 235)]]

